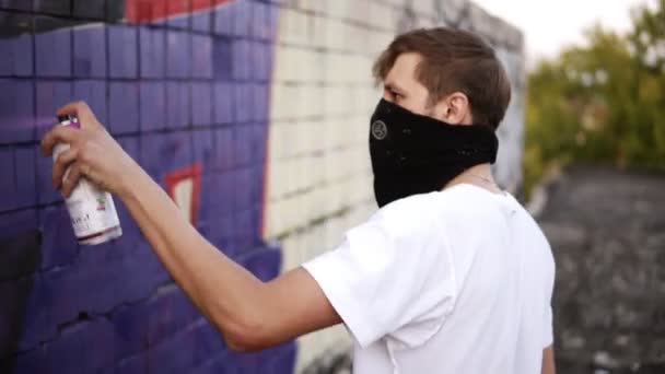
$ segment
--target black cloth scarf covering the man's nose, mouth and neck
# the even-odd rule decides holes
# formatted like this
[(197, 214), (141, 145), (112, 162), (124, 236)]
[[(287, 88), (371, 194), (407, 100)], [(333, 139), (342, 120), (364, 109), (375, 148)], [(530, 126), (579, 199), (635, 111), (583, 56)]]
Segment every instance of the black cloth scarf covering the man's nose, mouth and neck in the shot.
[(441, 190), (467, 168), (494, 163), (499, 140), (480, 125), (454, 126), (382, 100), (372, 116), (370, 155), (378, 207)]

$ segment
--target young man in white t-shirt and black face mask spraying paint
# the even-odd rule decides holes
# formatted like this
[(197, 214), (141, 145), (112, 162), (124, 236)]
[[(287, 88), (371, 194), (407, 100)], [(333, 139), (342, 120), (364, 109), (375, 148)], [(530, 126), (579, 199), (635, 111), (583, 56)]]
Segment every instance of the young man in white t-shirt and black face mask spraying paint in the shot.
[(550, 248), (491, 175), (510, 101), (494, 51), (470, 33), (419, 30), (398, 36), (374, 73), (385, 89), (370, 128), (381, 209), (336, 250), (267, 283), (183, 220), (84, 103), (58, 113), (81, 129), (56, 126), (43, 152), (71, 144), (54, 184), (68, 196), (85, 176), (119, 196), (233, 349), (343, 323), (355, 373), (553, 373)]

